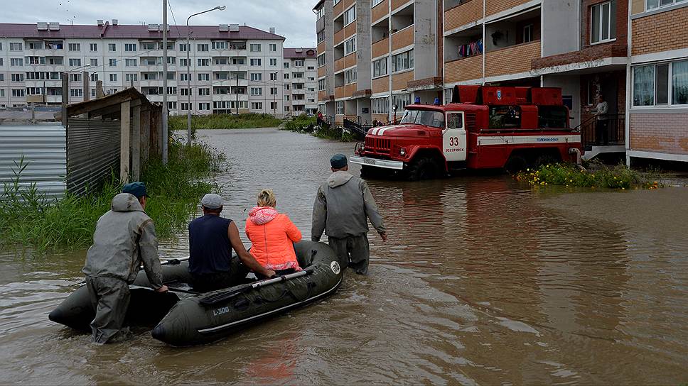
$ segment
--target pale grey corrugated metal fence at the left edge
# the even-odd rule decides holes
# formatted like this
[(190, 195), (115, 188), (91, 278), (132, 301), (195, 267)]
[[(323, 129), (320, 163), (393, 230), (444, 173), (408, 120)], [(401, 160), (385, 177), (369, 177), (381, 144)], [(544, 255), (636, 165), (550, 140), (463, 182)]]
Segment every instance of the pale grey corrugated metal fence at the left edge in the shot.
[(28, 164), (21, 173), (22, 187), (36, 182), (46, 197), (59, 198), (65, 192), (67, 157), (65, 128), (60, 123), (0, 125), (0, 191), (11, 183), (15, 164)]

